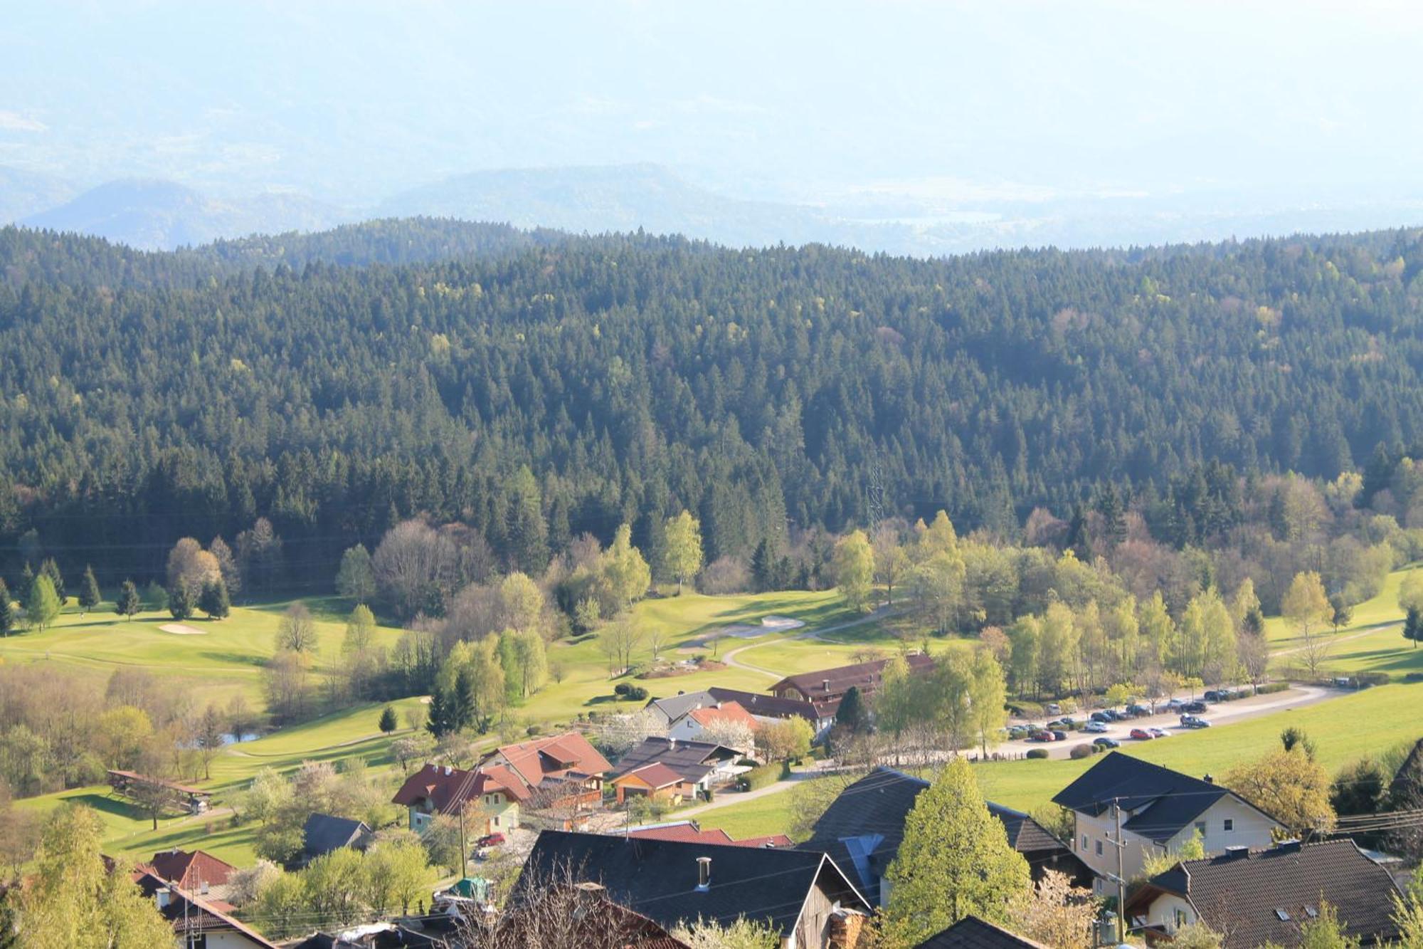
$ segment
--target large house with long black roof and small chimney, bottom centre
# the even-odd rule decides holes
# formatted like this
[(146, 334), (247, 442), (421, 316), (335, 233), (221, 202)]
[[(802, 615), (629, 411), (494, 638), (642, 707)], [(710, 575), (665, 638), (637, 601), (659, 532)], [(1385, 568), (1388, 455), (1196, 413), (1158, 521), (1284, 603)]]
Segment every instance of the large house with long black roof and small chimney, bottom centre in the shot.
[(768, 923), (790, 949), (822, 949), (832, 935), (848, 949), (869, 912), (824, 854), (561, 831), (539, 834), (509, 902), (518, 906), (561, 873), (601, 885), (666, 929), (746, 916)]

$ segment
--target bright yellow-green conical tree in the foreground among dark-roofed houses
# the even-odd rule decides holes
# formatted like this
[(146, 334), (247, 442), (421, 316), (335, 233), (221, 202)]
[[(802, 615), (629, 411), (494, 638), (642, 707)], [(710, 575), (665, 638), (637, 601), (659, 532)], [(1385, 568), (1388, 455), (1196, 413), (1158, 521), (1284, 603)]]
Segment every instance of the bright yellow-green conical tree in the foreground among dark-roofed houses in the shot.
[(973, 771), (953, 758), (914, 802), (889, 865), (884, 935), (915, 946), (968, 915), (1010, 923), (1032, 889), (1027, 861), (989, 814)]

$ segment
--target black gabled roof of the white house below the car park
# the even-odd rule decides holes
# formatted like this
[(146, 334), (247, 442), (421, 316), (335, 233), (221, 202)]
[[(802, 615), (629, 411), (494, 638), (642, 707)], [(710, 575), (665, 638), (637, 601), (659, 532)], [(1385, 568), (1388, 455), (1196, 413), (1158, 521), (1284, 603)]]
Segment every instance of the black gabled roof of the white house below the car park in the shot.
[(1195, 818), (1227, 795), (1259, 811), (1218, 784), (1111, 751), (1059, 791), (1053, 797), (1053, 804), (1090, 816), (1101, 816), (1111, 809), (1113, 801), (1118, 801), (1123, 812), (1131, 815), (1121, 824), (1124, 831), (1164, 842), (1190, 826)]

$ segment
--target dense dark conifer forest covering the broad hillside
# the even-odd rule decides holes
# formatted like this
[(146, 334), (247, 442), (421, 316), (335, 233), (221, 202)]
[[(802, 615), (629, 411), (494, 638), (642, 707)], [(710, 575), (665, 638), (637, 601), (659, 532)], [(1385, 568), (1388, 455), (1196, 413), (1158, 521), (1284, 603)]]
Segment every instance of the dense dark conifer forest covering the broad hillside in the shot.
[(272, 581), (324, 586), (428, 513), (535, 571), (682, 507), (707, 561), (748, 557), (864, 522), (875, 466), (885, 513), (1013, 534), (1113, 482), (1201, 543), (1231, 526), (1215, 463), (1332, 477), (1414, 442), (1420, 268), (1416, 231), (926, 262), (434, 221), (178, 254), (7, 228), (0, 570), (147, 577), (269, 517)]

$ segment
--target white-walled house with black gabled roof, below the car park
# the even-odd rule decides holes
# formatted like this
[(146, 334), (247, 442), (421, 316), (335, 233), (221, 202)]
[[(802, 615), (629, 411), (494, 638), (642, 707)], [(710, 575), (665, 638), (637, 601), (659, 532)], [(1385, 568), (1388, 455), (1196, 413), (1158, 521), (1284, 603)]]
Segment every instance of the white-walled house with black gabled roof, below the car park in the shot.
[[(1234, 791), (1120, 751), (1057, 792), (1053, 804), (1073, 812), (1073, 849), (1100, 878), (1116, 876), (1113, 849), (1121, 824), (1121, 875), (1141, 875), (1148, 856), (1175, 852), (1200, 834), (1208, 855), (1232, 846), (1268, 846), (1279, 822)], [(1120, 814), (1117, 812), (1120, 808)]]

